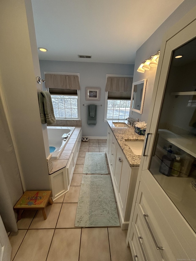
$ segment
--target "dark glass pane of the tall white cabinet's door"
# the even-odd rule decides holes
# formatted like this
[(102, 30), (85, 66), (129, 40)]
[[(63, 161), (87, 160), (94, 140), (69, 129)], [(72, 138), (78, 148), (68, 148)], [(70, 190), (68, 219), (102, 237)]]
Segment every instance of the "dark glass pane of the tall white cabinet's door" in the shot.
[(171, 53), (148, 169), (196, 232), (196, 38)]

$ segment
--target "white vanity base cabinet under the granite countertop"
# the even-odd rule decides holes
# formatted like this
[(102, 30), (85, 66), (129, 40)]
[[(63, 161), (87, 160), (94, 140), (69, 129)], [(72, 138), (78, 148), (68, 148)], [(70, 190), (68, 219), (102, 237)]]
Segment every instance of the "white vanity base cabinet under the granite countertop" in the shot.
[(138, 168), (131, 168), (110, 127), (108, 127), (106, 154), (111, 180), (119, 210), (120, 225), (128, 229)]

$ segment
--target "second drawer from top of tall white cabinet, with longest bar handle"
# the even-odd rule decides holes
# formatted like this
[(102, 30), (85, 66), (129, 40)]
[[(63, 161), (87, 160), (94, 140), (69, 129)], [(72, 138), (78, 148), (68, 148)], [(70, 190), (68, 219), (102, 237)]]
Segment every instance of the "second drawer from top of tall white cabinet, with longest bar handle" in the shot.
[(143, 218), (143, 214), (141, 212), (140, 206), (136, 204), (133, 223), (137, 227), (139, 237), (141, 237), (140, 241), (142, 242), (145, 251), (146, 260), (162, 261), (163, 259), (161, 256), (161, 252), (156, 248), (153, 242), (153, 238), (149, 234), (148, 227), (144, 222), (145, 220)]

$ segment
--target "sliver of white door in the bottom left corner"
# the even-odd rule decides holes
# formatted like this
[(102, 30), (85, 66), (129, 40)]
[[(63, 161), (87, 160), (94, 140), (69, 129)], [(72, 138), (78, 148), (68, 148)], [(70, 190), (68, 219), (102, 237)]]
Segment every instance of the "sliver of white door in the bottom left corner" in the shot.
[(0, 216), (0, 261), (11, 259), (12, 247)]

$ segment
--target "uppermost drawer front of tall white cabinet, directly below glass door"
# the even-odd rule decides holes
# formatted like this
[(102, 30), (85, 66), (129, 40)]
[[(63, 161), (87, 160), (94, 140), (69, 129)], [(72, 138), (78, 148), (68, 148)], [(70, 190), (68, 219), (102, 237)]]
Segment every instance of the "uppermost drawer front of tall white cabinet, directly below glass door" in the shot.
[[(153, 191), (153, 187), (151, 188)], [(182, 245), (180, 244), (178, 238), (168, 223), (168, 220), (171, 217), (164, 216), (160, 209), (161, 206), (158, 206), (154, 197), (142, 179), (140, 181), (136, 203), (142, 215), (147, 215), (145, 218), (149, 224), (156, 244), (163, 248), (163, 250), (160, 250), (160, 252), (164, 258), (164, 261), (176, 261), (177, 259), (188, 260), (186, 252), (184, 251)], [(164, 204), (164, 202), (162, 202), (162, 204)], [(151, 233), (147, 223), (145, 224), (145, 227), (150, 237)]]

